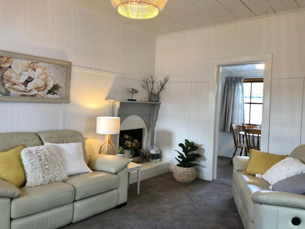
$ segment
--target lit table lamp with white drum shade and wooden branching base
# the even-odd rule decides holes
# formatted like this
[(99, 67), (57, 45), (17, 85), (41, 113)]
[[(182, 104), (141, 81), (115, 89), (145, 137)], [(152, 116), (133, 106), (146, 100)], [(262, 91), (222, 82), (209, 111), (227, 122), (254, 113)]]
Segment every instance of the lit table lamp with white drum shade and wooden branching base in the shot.
[(99, 148), (99, 153), (106, 148), (108, 154), (108, 144), (112, 146), (113, 155), (115, 155), (114, 145), (110, 139), (110, 134), (120, 133), (120, 118), (117, 117), (97, 117), (96, 118), (96, 133), (105, 134), (106, 138)]

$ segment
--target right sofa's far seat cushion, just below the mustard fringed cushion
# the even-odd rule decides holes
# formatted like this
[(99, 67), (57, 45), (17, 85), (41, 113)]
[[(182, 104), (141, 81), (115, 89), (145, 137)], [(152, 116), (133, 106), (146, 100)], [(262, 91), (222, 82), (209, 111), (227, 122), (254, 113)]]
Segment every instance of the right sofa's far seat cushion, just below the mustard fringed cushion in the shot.
[(242, 171), (233, 172), (233, 182), (239, 194), (241, 193), (242, 186), (245, 186), (246, 184), (252, 184), (267, 189), (270, 186), (270, 184), (267, 181), (260, 179), (254, 175), (244, 174), (242, 173)]

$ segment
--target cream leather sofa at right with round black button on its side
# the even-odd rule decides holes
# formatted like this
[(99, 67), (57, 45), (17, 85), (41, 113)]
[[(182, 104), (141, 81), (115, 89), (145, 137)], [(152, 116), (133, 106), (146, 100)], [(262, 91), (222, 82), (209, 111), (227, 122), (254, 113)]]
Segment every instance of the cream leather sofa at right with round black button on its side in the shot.
[[(290, 156), (305, 163), (305, 145)], [(304, 229), (305, 195), (271, 191), (267, 181), (243, 174), (248, 159), (233, 158), (233, 198), (245, 229)]]

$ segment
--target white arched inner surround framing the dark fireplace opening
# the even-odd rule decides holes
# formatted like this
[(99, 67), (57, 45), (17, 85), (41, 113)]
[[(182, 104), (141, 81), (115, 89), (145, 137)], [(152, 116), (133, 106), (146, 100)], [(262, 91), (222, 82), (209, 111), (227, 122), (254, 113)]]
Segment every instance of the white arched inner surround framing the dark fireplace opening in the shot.
[[(142, 148), (147, 149), (148, 145), (148, 131), (147, 126), (143, 118), (138, 115), (129, 115), (121, 123), (120, 130), (130, 130), (130, 129), (143, 129), (143, 137), (141, 139)], [(119, 146), (119, 135), (117, 137), (117, 147)]]

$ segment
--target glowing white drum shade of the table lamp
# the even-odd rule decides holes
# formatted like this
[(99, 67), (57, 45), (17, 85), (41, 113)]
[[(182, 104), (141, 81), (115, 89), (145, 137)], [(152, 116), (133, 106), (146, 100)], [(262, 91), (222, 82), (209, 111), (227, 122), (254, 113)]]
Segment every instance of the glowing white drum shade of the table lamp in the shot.
[(118, 117), (97, 117), (96, 133), (118, 134), (120, 133), (120, 118)]

